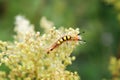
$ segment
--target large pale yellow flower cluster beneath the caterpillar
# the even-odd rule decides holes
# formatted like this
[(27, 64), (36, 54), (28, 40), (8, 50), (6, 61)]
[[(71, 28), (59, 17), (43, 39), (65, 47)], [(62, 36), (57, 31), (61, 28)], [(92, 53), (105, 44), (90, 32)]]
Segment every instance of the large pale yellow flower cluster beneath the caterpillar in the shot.
[(77, 72), (66, 70), (75, 56), (72, 51), (78, 41), (68, 41), (49, 54), (47, 49), (63, 35), (75, 36), (79, 29), (56, 29), (54, 24), (42, 18), (45, 33), (35, 32), (34, 26), (23, 16), (17, 16), (14, 42), (0, 41), (0, 80), (80, 80)]

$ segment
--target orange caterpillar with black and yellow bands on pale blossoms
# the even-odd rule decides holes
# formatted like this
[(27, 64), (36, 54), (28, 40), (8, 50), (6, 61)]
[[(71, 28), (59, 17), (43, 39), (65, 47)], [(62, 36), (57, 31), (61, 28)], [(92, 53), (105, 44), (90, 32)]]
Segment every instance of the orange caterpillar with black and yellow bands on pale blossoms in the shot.
[(61, 38), (59, 38), (50, 48), (48, 48), (47, 53), (49, 54), (51, 51), (53, 51), (55, 48), (60, 46), (62, 43), (66, 41), (83, 41), (81, 37), (79, 36), (80, 34), (77, 34), (76, 36), (72, 37), (71, 35), (65, 35)]

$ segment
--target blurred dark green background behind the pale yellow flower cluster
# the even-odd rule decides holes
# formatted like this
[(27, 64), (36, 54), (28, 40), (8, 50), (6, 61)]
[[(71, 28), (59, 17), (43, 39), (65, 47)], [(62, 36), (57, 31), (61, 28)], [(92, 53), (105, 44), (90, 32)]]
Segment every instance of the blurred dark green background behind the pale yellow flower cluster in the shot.
[(86, 44), (73, 52), (76, 60), (68, 70), (77, 71), (81, 80), (110, 79), (111, 55), (120, 57), (120, 24), (112, 5), (103, 0), (0, 0), (0, 40), (13, 41), (16, 15), (24, 15), (39, 28), (42, 16), (55, 26), (80, 28)]

